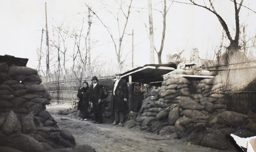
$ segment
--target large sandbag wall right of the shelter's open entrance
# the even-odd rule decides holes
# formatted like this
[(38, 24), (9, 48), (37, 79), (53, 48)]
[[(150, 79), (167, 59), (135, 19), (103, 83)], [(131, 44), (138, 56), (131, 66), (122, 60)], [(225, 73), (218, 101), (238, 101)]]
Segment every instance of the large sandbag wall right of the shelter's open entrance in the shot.
[(136, 118), (142, 128), (216, 149), (230, 147), (231, 133), (244, 138), (256, 135), (255, 114), (228, 111), (218, 75), (201, 80), (196, 94), (189, 92), (189, 80), (180, 75), (163, 78), (161, 87), (145, 94)]

